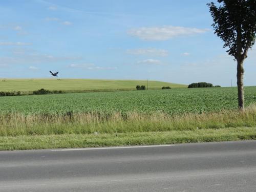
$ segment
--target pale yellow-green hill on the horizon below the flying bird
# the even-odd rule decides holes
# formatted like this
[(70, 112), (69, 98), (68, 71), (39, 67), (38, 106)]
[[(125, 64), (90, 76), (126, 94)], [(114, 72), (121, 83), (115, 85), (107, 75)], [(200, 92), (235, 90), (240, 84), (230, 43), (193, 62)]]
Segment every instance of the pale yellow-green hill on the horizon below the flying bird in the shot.
[[(145, 85), (146, 80), (104, 80), (104, 79), (0, 79), (0, 91), (31, 92), (41, 88), (66, 92), (135, 90), (137, 85)], [(184, 88), (184, 84), (148, 81), (148, 89), (163, 86)]]

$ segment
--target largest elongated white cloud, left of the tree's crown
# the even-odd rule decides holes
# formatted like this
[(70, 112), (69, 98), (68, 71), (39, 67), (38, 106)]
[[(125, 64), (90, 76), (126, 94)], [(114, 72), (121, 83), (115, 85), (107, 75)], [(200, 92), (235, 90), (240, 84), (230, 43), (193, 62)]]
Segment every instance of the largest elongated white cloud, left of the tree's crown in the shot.
[(142, 27), (132, 29), (128, 34), (139, 37), (143, 40), (168, 40), (178, 36), (187, 36), (198, 33), (204, 33), (209, 29), (163, 26), (163, 27)]

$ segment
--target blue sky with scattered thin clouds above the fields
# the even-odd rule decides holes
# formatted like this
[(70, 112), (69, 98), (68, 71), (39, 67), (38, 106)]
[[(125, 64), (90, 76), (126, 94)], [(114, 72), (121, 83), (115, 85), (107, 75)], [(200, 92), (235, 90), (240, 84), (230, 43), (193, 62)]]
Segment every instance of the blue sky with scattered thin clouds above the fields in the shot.
[[(0, 1), (0, 78), (236, 84), (204, 0)], [(256, 85), (256, 46), (245, 86)]]

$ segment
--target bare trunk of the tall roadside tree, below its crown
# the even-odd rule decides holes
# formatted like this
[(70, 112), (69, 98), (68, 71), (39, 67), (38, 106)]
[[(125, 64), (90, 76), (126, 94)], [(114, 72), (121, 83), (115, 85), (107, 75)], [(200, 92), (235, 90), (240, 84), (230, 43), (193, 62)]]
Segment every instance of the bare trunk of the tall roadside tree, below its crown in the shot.
[(238, 106), (241, 111), (244, 111), (244, 61), (238, 59), (237, 62)]

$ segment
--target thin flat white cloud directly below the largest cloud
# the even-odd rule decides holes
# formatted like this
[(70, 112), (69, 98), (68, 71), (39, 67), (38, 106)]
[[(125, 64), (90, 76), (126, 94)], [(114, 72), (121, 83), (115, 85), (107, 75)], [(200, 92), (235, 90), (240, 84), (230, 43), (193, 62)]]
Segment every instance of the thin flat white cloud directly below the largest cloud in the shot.
[(148, 56), (161, 56), (165, 57), (168, 55), (168, 51), (164, 49), (153, 49), (153, 48), (148, 48), (148, 49), (132, 49), (132, 50), (127, 50), (126, 51), (128, 54), (133, 54), (133, 55), (148, 55)]

